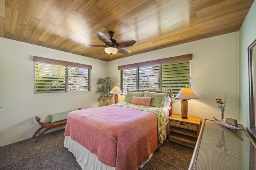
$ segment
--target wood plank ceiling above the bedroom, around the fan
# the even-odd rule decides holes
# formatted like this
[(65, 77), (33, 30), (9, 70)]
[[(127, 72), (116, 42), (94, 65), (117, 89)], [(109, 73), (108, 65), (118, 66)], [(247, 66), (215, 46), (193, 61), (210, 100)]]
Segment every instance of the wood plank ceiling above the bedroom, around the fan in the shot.
[[(0, 36), (111, 61), (238, 31), (253, 0), (0, 0)], [(132, 53), (102, 54), (97, 32), (134, 39)], [(40, 56), (41, 57), (41, 56)], [(43, 56), (47, 57), (47, 56)]]

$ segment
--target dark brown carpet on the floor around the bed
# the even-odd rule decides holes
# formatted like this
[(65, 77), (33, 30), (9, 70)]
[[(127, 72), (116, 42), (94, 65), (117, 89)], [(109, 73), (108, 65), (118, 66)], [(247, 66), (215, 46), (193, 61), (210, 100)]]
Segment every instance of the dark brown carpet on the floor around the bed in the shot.
[[(81, 170), (64, 148), (64, 129), (0, 147), (0, 170)], [(142, 170), (187, 170), (193, 149), (164, 142)]]

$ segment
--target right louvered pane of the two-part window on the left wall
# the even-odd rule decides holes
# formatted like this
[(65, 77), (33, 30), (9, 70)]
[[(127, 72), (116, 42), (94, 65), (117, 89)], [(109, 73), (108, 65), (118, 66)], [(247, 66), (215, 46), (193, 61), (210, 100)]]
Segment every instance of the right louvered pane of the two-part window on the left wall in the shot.
[(90, 69), (69, 66), (68, 91), (90, 91)]

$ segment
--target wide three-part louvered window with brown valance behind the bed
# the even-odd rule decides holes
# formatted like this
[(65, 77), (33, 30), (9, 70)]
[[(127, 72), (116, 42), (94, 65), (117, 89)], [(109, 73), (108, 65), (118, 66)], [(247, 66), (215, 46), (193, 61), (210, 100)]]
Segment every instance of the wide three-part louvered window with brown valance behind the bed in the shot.
[[(129, 90), (161, 90), (175, 97), (182, 87), (190, 86), (190, 60), (192, 55), (184, 55), (119, 66), (121, 70), (120, 88), (123, 94)], [(145, 66), (147, 64), (152, 64)], [(136, 66), (133, 68), (127, 68)], [(123, 69), (122, 69), (123, 68)]]

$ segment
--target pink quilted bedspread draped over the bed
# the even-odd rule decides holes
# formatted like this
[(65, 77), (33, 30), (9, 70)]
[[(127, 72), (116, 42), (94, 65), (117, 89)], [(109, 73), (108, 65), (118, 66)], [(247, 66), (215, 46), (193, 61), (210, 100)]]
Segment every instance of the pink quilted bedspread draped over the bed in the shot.
[(151, 111), (104, 106), (69, 113), (64, 135), (116, 170), (136, 170), (157, 149), (157, 129)]

